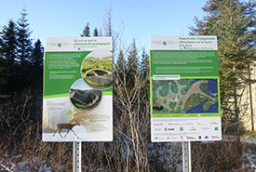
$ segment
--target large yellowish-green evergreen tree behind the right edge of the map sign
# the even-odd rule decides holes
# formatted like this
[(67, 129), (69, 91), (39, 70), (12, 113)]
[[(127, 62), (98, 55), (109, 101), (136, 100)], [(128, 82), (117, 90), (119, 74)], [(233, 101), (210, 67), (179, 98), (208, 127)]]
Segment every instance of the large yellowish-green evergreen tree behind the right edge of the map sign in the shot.
[(191, 34), (218, 36), (222, 114), (235, 119), (238, 141), (238, 91), (247, 86), (248, 65), (255, 60), (255, 7), (255, 1), (209, 0), (202, 8), (208, 15), (190, 28)]

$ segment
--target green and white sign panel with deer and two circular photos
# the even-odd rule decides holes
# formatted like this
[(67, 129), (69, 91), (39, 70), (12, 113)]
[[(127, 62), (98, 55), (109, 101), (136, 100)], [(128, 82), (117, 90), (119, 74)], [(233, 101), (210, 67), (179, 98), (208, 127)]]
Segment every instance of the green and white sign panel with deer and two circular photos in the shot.
[(113, 139), (112, 37), (47, 38), (43, 140)]

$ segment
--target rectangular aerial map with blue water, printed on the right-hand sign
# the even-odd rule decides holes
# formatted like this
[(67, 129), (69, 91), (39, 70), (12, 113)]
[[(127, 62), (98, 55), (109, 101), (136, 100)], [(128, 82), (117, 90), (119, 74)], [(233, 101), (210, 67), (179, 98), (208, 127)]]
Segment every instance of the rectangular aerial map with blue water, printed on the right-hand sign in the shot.
[(153, 80), (154, 113), (219, 112), (217, 79)]

